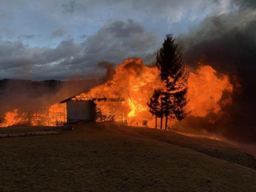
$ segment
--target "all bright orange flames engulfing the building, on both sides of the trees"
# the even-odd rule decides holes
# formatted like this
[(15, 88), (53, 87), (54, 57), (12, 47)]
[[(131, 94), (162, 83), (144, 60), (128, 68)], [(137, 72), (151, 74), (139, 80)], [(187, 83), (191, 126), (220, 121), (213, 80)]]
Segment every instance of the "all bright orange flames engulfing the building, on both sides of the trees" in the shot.
[[(198, 65), (198, 69), (190, 72), (188, 80), (189, 90), (186, 106), (190, 115), (204, 117), (209, 113), (222, 113), (222, 107), (232, 102), (233, 86), (227, 75), (218, 74), (210, 65)], [(96, 100), (97, 121), (127, 122), (129, 125), (154, 127), (154, 118), (149, 113), (147, 102), (155, 89), (164, 89), (160, 81), (159, 70), (155, 66), (147, 66), (141, 59), (130, 58), (124, 60), (115, 69), (112, 80), (96, 86), (87, 93), (82, 93), (73, 100)], [(225, 99), (223, 94), (226, 93)], [(32, 125), (53, 125), (65, 122), (65, 104), (54, 104), (44, 113), (38, 113), (30, 122)], [(6, 113), (6, 125), (22, 122), (20, 118), (26, 115), (18, 114), (19, 109)], [(35, 114), (33, 113), (34, 117)], [(174, 122), (173, 122), (174, 123)], [(171, 125), (172, 123), (169, 123)]]

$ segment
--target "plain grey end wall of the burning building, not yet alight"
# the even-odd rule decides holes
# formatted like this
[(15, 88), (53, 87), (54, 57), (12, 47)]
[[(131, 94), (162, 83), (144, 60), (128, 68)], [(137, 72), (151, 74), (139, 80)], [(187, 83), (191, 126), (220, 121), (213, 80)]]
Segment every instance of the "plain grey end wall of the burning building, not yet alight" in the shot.
[(96, 119), (96, 105), (92, 101), (68, 101), (67, 121), (82, 120), (94, 122)]

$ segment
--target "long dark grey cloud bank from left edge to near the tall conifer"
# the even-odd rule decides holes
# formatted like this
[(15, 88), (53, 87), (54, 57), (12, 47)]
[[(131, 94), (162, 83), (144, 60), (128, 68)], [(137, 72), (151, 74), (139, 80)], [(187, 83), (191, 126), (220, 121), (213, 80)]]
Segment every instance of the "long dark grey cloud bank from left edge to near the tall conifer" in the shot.
[[(83, 43), (63, 40), (55, 48), (29, 47), (21, 41), (0, 42), (2, 78), (64, 79), (102, 74), (101, 61), (120, 63), (125, 58), (144, 57), (156, 38), (133, 20), (114, 21), (102, 26)], [(105, 67), (107, 70), (110, 68)], [(105, 69), (104, 68), (104, 69)]]

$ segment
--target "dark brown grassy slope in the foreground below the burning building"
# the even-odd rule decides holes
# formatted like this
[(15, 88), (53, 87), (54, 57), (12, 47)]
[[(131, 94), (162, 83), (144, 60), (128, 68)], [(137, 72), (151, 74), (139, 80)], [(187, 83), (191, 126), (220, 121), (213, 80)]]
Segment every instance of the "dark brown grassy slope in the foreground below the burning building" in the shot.
[(0, 191), (256, 191), (251, 156), (161, 130), (88, 123), (0, 146)]

